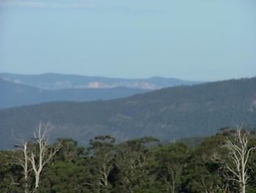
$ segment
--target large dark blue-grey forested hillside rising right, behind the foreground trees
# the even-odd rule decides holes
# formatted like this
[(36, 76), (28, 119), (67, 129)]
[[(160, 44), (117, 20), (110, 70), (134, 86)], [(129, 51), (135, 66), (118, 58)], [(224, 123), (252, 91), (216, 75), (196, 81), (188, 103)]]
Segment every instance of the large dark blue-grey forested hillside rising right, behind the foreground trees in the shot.
[(156, 90), (112, 100), (48, 102), (0, 110), (0, 148), (12, 131), (29, 137), (39, 121), (52, 122), (54, 137), (82, 144), (96, 135), (118, 140), (204, 136), (225, 126), (256, 128), (256, 78)]

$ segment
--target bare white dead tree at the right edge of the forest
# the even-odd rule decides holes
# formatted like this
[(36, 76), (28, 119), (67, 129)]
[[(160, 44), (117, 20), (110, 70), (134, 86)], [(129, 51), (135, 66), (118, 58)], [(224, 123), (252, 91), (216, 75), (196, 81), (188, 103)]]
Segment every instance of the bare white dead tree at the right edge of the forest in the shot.
[(231, 180), (238, 184), (239, 192), (246, 192), (249, 179), (247, 163), (252, 150), (256, 146), (249, 147), (249, 132), (238, 127), (232, 138), (225, 140), (224, 148), (228, 150), (227, 160), (224, 161), (226, 169), (232, 174)]

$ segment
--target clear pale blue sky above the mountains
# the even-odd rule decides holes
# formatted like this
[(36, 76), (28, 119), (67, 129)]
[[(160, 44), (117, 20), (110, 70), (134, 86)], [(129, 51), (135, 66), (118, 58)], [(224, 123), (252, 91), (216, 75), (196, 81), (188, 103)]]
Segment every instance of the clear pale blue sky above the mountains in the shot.
[(255, 0), (0, 0), (0, 73), (256, 76)]

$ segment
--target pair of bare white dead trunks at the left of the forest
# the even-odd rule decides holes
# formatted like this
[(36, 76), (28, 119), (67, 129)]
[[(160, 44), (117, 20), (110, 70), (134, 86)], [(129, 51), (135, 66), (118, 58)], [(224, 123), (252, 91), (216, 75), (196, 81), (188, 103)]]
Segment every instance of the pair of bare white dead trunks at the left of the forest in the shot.
[[(39, 188), (40, 176), (44, 166), (51, 161), (55, 154), (62, 147), (61, 141), (56, 145), (51, 145), (48, 141), (48, 133), (54, 127), (50, 124), (39, 123), (34, 131), (33, 140), (24, 140), (15, 137), (18, 143), (15, 145), (19, 149), (17, 156), (13, 157), (17, 160), (14, 164), (23, 168), (24, 175), (24, 192), (37, 192)], [(35, 177), (35, 184), (31, 184), (31, 178)], [(31, 187), (33, 191), (31, 191)]]

